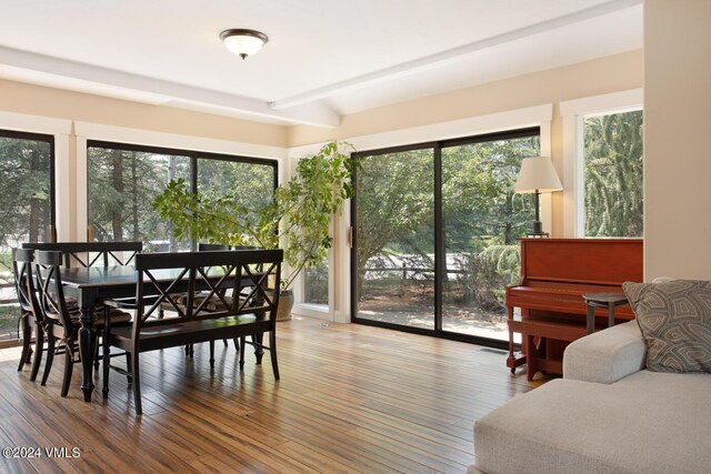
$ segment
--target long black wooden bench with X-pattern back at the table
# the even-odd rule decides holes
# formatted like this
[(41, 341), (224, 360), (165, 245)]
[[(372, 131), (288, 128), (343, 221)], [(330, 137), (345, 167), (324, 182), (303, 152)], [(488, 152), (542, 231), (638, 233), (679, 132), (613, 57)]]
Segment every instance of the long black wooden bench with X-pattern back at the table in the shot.
[[(136, 413), (140, 415), (140, 353), (247, 335), (258, 335), (252, 344), (269, 351), (274, 379), (279, 380), (276, 339), (279, 292), (269, 292), (269, 289), (279, 288), (282, 259), (281, 250), (137, 255), (136, 296), (106, 301), (107, 306), (134, 309), (136, 317), (130, 327), (114, 327), (112, 321), (107, 326), (102, 357), (104, 396), (108, 394), (110, 369), (116, 369), (133, 384)], [(262, 271), (254, 271), (257, 265), (262, 265)], [(176, 299), (184, 294), (186, 286), (191, 289), (188, 301), (184, 305), (178, 304)], [(232, 294), (241, 294), (247, 288), (250, 289), (247, 299), (229, 299), (223, 293), (224, 289), (230, 289)], [(194, 304), (198, 296), (201, 302)], [(219, 303), (208, 310), (212, 297), (217, 297)], [(163, 319), (154, 317), (163, 303), (171, 305), (173, 311)], [(270, 334), (268, 346), (261, 344), (264, 333)], [(111, 346), (130, 353), (126, 370), (111, 366)], [(240, 359), (240, 366), (243, 366), (243, 351)]]

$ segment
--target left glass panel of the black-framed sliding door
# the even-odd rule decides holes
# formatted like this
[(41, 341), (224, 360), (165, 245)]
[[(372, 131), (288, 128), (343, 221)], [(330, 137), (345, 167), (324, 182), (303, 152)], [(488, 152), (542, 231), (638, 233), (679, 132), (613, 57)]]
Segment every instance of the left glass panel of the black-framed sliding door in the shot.
[(360, 160), (356, 314), (433, 330), (433, 150), (391, 150)]

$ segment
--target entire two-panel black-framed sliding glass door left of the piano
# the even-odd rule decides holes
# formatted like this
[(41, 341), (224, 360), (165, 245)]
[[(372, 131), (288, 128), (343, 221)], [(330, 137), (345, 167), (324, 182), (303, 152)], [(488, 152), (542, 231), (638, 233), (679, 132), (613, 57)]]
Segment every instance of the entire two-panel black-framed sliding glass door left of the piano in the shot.
[(362, 153), (353, 200), (353, 321), (508, 339), (505, 286), (533, 220), (513, 186), (539, 130)]

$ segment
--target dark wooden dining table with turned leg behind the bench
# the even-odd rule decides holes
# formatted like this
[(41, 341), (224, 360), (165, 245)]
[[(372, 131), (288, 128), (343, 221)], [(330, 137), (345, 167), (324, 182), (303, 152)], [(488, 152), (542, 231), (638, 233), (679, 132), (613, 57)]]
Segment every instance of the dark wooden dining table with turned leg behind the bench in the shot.
[[(158, 281), (172, 282), (180, 276), (181, 271), (182, 269), (166, 269), (151, 273)], [(210, 276), (214, 276), (214, 281), (218, 281), (222, 275), (223, 273), (219, 269), (210, 272)], [(61, 279), (64, 294), (77, 299), (81, 311), (81, 327), (79, 329), (79, 353), (82, 369), (81, 391), (84, 395), (84, 402), (90, 402), (94, 389), (93, 364), (97, 351), (97, 315), (94, 310), (104, 300), (134, 296), (138, 271), (133, 266), (66, 268), (61, 270)], [(213, 284), (214, 281), (212, 282)], [(249, 284), (251, 282), (247, 276), (244, 278), (243, 283)], [(154, 286), (152, 289), (154, 290)], [(178, 284), (173, 289), (178, 292), (187, 291), (188, 279), (186, 279), (184, 288), (180, 288)], [(207, 283), (204, 289), (207, 289)], [(204, 289), (197, 288), (196, 290)]]

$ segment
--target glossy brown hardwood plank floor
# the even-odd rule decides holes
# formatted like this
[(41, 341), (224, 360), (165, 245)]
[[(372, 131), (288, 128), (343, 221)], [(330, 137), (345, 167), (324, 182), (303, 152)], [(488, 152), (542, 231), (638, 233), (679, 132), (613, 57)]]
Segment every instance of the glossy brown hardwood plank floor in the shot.
[(1, 350), (0, 447), (68, 455), (0, 457), (0, 472), (463, 473), (474, 420), (541, 384), (511, 375), (502, 352), (378, 327), (294, 319), (278, 341), (279, 382), (251, 347), (243, 372), (231, 344), (213, 371), (207, 344), (192, 360), (141, 354), (138, 418), (120, 374), (107, 401), (99, 389), (84, 403), (77, 366), (61, 399), (63, 357), (42, 387), (17, 372), (19, 347)]

